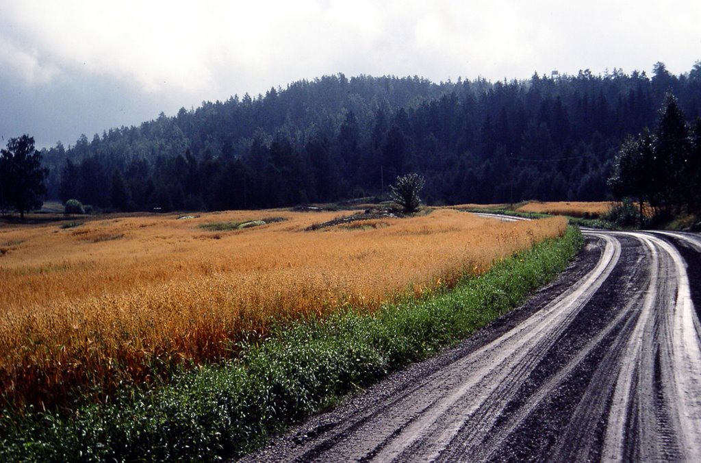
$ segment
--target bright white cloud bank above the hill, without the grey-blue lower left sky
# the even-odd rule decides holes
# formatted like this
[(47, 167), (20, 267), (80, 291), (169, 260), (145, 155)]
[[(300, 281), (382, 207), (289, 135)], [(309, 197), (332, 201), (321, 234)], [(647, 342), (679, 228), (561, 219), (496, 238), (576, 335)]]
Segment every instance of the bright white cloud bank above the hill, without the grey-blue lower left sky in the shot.
[(672, 60), (669, 69), (681, 72), (693, 64), (693, 51), (701, 54), (700, 5), (21, 0), (1, 13), (53, 63), (22, 55), (32, 79), (71, 67), (134, 81), (147, 92), (233, 93), (332, 72), (501, 79), (536, 68), (649, 68), (656, 60)]

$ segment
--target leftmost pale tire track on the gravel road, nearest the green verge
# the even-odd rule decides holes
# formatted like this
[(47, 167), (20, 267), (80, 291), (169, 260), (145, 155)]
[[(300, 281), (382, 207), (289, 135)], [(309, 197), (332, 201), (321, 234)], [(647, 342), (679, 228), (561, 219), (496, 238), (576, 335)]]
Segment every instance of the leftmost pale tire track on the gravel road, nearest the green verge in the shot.
[[(552, 347), (571, 318), (578, 314), (611, 274), (620, 257), (620, 244), (607, 237), (604, 239), (604, 255), (587, 278), (514, 330), (456, 363), (456, 368), (468, 373), (468, 377), (450, 394), (433, 403), (430, 416), (438, 419), (430, 422), (421, 416), (421, 420), (415, 420), (413, 426), (404, 431), (403, 439), (395, 438), (391, 445), (378, 453), (379, 460), (386, 461), (393, 457), (405, 459), (417, 452), (421, 454), (421, 450), (408, 445), (419, 438), (433, 443), (433, 450), (422, 457), (437, 459), (447, 443), (458, 431), (465, 429), (468, 422), (477, 422), (478, 425), (463, 433), (466, 435), (461, 436), (461, 445), (470, 448), (481, 443), (526, 380), (533, 364)], [(461, 413), (447, 415), (449, 408), (458, 408)], [(428, 429), (430, 432), (427, 432)]]

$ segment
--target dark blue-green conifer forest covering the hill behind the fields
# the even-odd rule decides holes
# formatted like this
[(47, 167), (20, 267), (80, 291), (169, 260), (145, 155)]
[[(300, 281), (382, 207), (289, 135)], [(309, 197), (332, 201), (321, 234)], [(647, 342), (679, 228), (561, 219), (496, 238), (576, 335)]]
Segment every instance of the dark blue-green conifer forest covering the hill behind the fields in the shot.
[(339, 201), (386, 193), (408, 172), (426, 178), (428, 203), (597, 201), (622, 140), (658, 123), (666, 93), (701, 116), (701, 62), (652, 74), (324, 76), (81, 135), (43, 162), (51, 197), (112, 210)]

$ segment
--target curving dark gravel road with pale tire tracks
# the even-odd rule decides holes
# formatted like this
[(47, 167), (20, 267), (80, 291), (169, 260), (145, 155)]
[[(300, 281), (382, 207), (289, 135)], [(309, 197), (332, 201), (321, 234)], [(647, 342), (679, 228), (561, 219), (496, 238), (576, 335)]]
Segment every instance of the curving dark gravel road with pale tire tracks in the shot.
[(250, 461), (701, 461), (701, 235), (585, 231), (552, 285)]

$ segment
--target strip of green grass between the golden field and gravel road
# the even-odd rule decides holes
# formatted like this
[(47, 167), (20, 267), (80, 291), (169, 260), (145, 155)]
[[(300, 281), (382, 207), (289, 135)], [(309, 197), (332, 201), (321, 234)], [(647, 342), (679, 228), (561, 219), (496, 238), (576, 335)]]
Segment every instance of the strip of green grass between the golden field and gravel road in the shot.
[(4, 410), (0, 460), (216, 460), (242, 455), (339, 397), (464, 339), (562, 271), (583, 243), (576, 228), (452, 290), (381, 309), (352, 309), (280, 329), (242, 356), (126, 389), (69, 416)]

